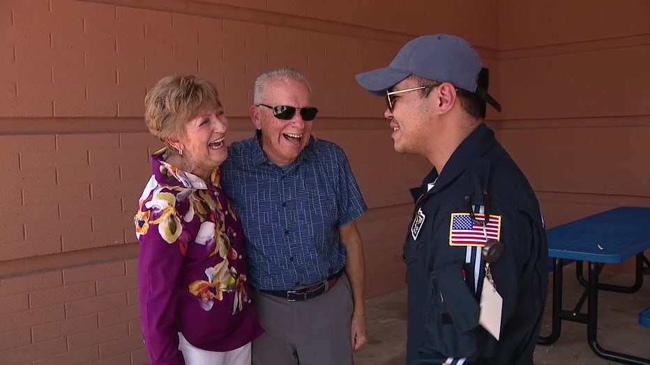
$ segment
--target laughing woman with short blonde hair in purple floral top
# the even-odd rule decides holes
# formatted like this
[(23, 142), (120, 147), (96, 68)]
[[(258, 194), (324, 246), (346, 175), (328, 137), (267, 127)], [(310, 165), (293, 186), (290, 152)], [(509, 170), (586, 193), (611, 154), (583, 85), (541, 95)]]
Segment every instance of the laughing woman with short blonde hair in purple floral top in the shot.
[(151, 156), (139, 199), (138, 295), (152, 364), (250, 364), (263, 329), (250, 303), (241, 223), (219, 184), (227, 119), (209, 81), (172, 75), (144, 100)]

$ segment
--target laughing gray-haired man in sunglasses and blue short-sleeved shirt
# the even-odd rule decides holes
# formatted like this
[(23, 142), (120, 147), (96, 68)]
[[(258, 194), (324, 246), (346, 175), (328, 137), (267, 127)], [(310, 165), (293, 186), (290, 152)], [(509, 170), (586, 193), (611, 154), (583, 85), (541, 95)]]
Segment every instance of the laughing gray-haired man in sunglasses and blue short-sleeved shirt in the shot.
[(233, 143), (221, 166), (266, 329), (252, 344), (253, 364), (352, 364), (367, 336), (356, 228), (367, 207), (345, 153), (311, 135), (318, 110), (303, 75), (266, 72), (253, 98), (257, 133)]

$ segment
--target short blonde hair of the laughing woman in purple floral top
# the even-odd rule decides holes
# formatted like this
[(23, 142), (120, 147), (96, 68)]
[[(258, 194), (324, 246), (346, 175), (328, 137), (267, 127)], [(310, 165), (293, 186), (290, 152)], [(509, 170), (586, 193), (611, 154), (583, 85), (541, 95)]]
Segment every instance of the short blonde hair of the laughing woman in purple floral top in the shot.
[[(163, 77), (144, 97), (144, 123), (167, 143), (183, 135), (183, 126), (205, 111), (221, 107), (216, 87), (192, 75)], [(167, 150), (172, 149), (167, 146)]]

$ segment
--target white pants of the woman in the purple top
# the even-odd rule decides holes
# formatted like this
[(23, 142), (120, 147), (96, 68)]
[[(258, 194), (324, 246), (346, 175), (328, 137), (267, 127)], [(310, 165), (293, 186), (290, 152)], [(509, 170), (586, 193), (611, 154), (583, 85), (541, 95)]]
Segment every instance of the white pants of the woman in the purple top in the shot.
[(179, 350), (187, 365), (250, 365), (250, 342), (235, 350), (214, 352), (192, 346), (179, 332)]

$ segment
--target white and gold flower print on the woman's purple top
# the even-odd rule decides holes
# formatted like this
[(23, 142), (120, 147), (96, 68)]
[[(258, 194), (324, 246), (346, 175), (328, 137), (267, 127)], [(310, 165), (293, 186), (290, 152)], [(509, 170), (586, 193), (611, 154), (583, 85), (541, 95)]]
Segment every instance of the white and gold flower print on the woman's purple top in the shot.
[[(215, 187), (219, 186), (219, 178), (218, 170), (213, 171), (211, 180)], [(216, 199), (219, 192), (209, 185), (204, 189), (188, 189), (188, 186), (200, 188), (205, 183), (162, 160), (160, 178), (152, 176), (151, 179), (158, 181), (153, 183), (150, 180), (142, 194), (144, 199), (141, 198), (135, 215), (137, 238), (140, 239), (157, 226), (158, 235), (168, 244), (179, 244), (181, 254), (185, 256), (190, 240), (183, 238), (183, 225), (197, 220), (199, 229), (192, 241), (206, 247), (207, 257), (218, 255), (222, 260), (206, 268), (207, 280), (193, 281), (188, 291), (205, 311), (213, 308), (215, 300), (223, 300), (223, 293), (236, 292), (233, 308), (241, 311), (243, 302), (248, 302), (248, 293), (245, 293), (243, 285), (245, 274), (238, 276), (236, 269), (230, 265), (230, 261), (239, 257), (230, 244), (230, 236), (236, 235), (236, 232), (225, 224), (225, 215), (237, 219), (231, 205), (228, 203), (224, 210), (221, 201)], [(186, 208), (182, 214), (181, 207)]]

